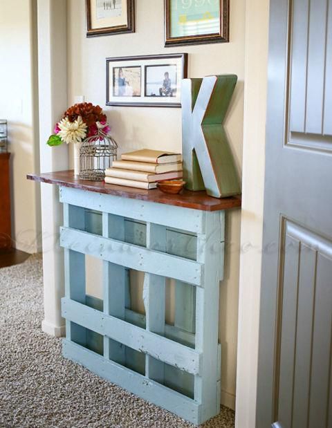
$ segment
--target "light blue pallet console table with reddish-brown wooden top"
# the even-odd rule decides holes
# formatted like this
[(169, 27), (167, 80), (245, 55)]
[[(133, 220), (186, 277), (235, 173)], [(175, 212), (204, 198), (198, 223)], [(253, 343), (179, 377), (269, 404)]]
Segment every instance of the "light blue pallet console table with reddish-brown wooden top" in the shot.
[[(225, 210), (241, 198), (165, 195), (73, 171), (28, 178), (59, 185), (64, 206), (64, 357), (196, 425), (218, 414)], [(103, 299), (86, 294), (86, 255), (103, 261)], [(144, 272), (145, 314), (131, 308), (129, 270)]]

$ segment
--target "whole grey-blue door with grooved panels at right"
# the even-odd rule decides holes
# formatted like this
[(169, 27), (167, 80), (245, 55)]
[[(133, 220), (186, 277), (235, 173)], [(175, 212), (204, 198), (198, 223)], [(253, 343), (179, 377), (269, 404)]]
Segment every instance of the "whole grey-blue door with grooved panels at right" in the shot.
[(256, 428), (332, 428), (332, 0), (270, 0)]

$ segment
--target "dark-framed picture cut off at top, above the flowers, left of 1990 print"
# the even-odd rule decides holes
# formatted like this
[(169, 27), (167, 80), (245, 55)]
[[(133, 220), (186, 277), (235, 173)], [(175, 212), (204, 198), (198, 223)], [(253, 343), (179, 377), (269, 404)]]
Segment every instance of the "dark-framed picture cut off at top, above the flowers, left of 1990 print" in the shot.
[(135, 0), (86, 0), (86, 37), (134, 32)]

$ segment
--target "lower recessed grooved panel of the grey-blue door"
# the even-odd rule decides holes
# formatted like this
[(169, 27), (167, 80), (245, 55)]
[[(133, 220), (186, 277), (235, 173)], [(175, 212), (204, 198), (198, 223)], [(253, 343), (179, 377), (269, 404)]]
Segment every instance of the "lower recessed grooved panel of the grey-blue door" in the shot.
[(332, 333), (332, 243), (283, 220), (275, 419), (327, 426)]

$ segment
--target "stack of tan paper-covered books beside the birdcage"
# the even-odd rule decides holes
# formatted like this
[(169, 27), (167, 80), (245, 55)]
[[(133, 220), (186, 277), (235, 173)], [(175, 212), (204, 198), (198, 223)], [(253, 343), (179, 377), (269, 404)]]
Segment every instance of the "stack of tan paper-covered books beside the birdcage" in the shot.
[(124, 153), (105, 170), (105, 183), (154, 189), (158, 181), (182, 178), (181, 154), (142, 149)]

